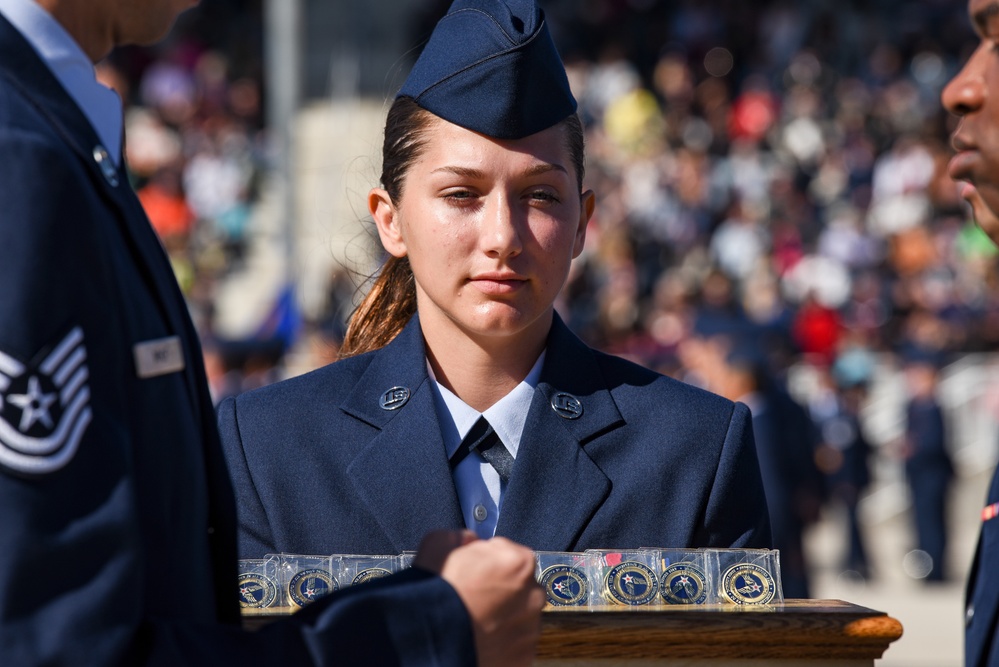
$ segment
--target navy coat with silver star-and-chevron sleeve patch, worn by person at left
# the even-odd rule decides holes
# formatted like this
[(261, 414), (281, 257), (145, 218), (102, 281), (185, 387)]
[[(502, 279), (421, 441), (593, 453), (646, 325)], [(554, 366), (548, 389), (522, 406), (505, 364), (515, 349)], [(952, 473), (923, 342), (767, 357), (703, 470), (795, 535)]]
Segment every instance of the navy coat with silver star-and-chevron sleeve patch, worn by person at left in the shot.
[(98, 146), (0, 16), (0, 665), (469, 664), (464, 607), (419, 571), (239, 631), (197, 338)]

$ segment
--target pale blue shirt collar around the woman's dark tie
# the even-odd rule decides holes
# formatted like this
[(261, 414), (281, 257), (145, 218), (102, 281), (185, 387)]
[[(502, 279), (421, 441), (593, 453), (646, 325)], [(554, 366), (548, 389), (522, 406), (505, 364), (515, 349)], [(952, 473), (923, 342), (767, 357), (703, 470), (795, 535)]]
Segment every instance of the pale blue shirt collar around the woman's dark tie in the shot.
[[(531, 407), (531, 401), (534, 399), (534, 390), (541, 379), (541, 368), (544, 366), (544, 362), (545, 353), (542, 351), (541, 356), (534, 362), (534, 366), (527, 374), (527, 377), (514, 387), (509, 394), (496, 401), (496, 403), (481, 414), (478, 410), (468, 405), (468, 403), (458, 398), (447, 387), (438, 384), (437, 378), (434, 377), (434, 371), (430, 368), (430, 363), (427, 363), (427, 372), (430, 380), (437, 388), (437, 396), (441, 399), (436, 402), (437, 414), (442, 424), (441, 430), (444, 435), (444, 444), (447, 447), (447, 456), (449, 459), (457, 451), (458, 446), (461, 445), (462, 438), (472, 429), (472, 426), (480, 416), (486, 418), (486, 421), (496, 431), (496, 434), (503, 441), (511, 456), (517, 458), (517, 451), (520, 449), (520, 439), (524, 434), (524, 424), (527, 423), (527, 412)], [(446, 417), (451, 418), (450, 421), (453, 424), (453, 428), (443, 426)]]

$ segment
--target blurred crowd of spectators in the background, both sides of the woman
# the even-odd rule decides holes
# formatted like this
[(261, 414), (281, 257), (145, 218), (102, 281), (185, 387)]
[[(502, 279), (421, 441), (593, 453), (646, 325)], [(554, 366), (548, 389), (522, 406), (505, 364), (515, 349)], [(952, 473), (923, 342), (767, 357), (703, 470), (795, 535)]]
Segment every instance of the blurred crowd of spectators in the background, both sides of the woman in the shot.
[[(808, 593), (802, 532), (830, 502), (848, 519), (843, 569), (873, 574), (860, 415), (875, 367), (897, 365), (908, 394), (892, 452), (923, 576), (944, 578), (953, 466), (935, 386), (955, 356), (999, 346), (996, 249), (946, 174), (939, 94), (975, 42), (964, 3), (541, 4), (598, 199), (563, 318), (595, 347), (752, 408), (787, 597)], [(206, 3), (158, 50), (101, 67), (217, 394), (271, 381), (285, 351), (213, 343), (214, 286), (246, 250), (267, 167), (254, 5)], [(341, 301), (355, 296), (344, 284), (331, 286)], [(342, 305), (307, 323), (333, 347)], [(815, 381), (792, 392), (802, 366)]]

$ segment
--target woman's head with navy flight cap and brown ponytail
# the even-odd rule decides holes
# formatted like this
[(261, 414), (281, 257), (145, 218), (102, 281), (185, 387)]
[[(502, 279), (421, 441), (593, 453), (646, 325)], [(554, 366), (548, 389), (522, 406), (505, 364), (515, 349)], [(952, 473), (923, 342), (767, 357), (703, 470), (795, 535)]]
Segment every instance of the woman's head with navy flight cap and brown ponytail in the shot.
[[(496, 26), (507, 43), (490, 57)], [(583, 164), (582, 125), (540, 10), (458, 0), (386, 119), (382, 187), (368, 206), (391, 257), (341, 356), (385, 345), (417, 308), (425, 330), (547, 331), (593, 212)]]

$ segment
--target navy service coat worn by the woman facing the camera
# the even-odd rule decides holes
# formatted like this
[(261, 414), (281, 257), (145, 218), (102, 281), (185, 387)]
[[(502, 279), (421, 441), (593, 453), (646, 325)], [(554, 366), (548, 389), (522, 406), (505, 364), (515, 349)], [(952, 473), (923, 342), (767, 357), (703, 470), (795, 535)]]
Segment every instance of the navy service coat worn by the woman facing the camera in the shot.
[[(383, 409), (396, 387), (410, 398)], [(553, 410), (562, 392), (581, 416)], [(397, 553), (464, 526), (417, 317), (381, 350), (224, 401), (219, 423), (244, 557)], [(496, 534), (556, 551), (768, 547), (749, 410), (592, 350), (556, 316)]]

